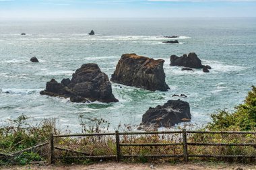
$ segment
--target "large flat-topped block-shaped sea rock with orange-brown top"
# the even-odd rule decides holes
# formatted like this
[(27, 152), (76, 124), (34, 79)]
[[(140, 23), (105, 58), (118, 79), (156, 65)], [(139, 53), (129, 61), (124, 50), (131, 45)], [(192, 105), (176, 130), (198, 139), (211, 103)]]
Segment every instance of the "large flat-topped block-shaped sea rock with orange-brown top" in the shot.
[(170, 88), (165, 83), (163, 65), (164, 60), (123, 54), (110, 80), (150, 91), (167, 91)]

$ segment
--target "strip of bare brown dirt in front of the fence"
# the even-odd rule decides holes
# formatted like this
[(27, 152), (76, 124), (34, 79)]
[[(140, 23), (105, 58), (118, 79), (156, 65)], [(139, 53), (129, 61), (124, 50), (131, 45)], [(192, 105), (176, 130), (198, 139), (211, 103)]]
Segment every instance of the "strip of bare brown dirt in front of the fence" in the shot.
[(142, 164), (142, 163), (96, 163), (92, 165), (26, 165), (24, 167), (0, 167), (3, 170), (215, 170), (215, 169), (233, 169), (233, 170), (256, 170), (255, 165), (226, 164), (226, 163), (188, 163), (188, 164)]

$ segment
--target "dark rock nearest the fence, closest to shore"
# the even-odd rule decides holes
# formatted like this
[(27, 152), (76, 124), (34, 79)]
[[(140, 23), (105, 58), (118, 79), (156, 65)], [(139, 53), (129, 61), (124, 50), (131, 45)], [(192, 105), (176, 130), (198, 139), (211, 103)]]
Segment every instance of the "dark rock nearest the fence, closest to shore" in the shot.
[(182, 100), (169, 100), (164, 105), (158, 105), (156, 108), (150, 108), (142, 116), (141, 127), (170, 127), (180, 122), (189, 122), (191, 120), (189, 103)]

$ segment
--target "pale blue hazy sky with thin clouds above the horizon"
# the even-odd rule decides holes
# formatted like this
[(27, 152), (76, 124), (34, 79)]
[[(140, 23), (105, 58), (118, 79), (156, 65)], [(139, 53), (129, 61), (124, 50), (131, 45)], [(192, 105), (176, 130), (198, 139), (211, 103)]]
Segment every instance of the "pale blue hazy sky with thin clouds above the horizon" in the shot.
[(256, 17), (256, 0), (0, 0), (0, 19)]

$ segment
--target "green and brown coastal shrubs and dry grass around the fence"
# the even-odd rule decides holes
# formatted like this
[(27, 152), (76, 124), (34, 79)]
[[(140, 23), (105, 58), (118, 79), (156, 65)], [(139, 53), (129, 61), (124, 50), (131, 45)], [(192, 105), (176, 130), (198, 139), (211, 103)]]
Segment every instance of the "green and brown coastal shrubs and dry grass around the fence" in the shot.
[[(29, 118), (26, 115), (20, 116), (15, 120), (7, 120), (9, 126), (0, 128), (0, 163), (1, 165), (19, 163), (26, 164), (34, 161), (49, 161), (49, 146), (43, 146), (39, 149), (32, 149), (18, 155), (12, 155), (24, 148), (35, 146), (42, 142), (48, 142), (51, 132), (59, 134), (60, 130), (55, 127), (55, 120), (44, 120), (36, 126), (29, 124)], [(91, 124), (85, 124), (81, 118), (82, 132), (100, 133), (109, 132), (109, 122), (103, 119), (92, 120)], [(119, 131), (131, 132), (130, 126), (124, 125), (118, 127)], [(256, 130), (256, 87), (249, 91), (245, 102), (236, 106), (234, 112), (220, 110), (212, 114), (212, 122), (207, 124), (201, 130), (232, 130), (232, 131), (255, 131)], [(66, 131), (68, 132), (68, 131)], [(154, 135), (133, 135), (123, 136), (121, 143), (172, 143), (182, 142), (181, 135), (154, 134)], [(188, 142), (208, 142), (208, 143), (255, 143), (255, 135), (253, 134), (193, 134), (188, 136)], [(69, 148), (75, 151), (87, 153), (88, 155), (115, 155), (116, 146), (115, 138), (110, 136), (87, 136), (77, 138), (57, 138), (55, 145), (61, 148)], [(122, 148), (122, 154), (141, 155), (136, 159), (124, 159), (129, 162), (148, 162), (156, 161), (148, 159), (143, 155), (166, 154), (178, 155), (182, 154), (182, 146), (129, 146)], [(252, 146), (189, 146), (189, 153), (207, 154), (207, 155), (255, 155), (255, 147)], [(57, 157), (74, 156), (74, 153), (67, 151), (56, 151)], [(77, 153), (76, 153), (77, 154)], [(75, 155), (76, 155), (75, 154)], [(199, 160), (199, 159), (197, 159)], [(206, 159), (201, 159), (206, 160)], [(207, 161), (216, 160), (214, 158)], [(255, 163), (255, 159), (243, 158), (221, 158), (218, 161), (236, 161)], [(60, 163), (92, 163), (93, 159), (59, 159)], [(104, 160), (101, 160), (104, 161)], [(157, 159), (161, 162), (176, 162), (179, 158)]]

